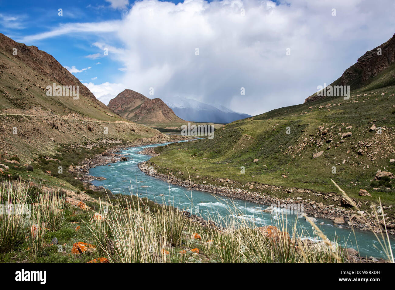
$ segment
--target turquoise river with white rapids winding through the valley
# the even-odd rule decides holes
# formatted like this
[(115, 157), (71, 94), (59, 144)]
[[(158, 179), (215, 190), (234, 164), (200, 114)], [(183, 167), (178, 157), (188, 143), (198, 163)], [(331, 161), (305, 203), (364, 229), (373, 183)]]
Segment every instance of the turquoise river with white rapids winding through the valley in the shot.
[[(169, 144), (169, 143), (166, 143)], [(92, 176), (103, 176), (106, 180), (94, 180), (94, 185), (103, 185), (113, 193), (130, 194), (131, 185), (133, 194), (136, 189), (140, 197), (147, 197), (160, 204), (169, 202), (180, 210), (187, 210), (200, 215), (205, 219), (218, 221), (220, 219), (230, 221), (241, 220), (250, 226), (277, 225), (284, 222), (289, 232), (296, 223), (297, 232), (305, 237), (314, 239), (311, 225), (304, 218), (288, 213), (284, 215), (281, 211), (265, 213), (262, 210), (268, 205), (247, 202), (241, 199), (227, 198), (204, 191), (188, 191), (185, 187), (172, 185), (166, 181), (154, 178), (141, 172), (137, 164), (150, 159), (149, 155), (137, 152), (147, 147), (156, 147), (166, 144), (144, 145), (121, 150), (121, 153), (129, 157), (128, 161), (111, 163), (111, 166), (102, 165), (90, 169)], [(148, 187), (141, 187), (148, 186)], [(136, 188), (137, 187), (137, 188)], [(324, 222), (324, 225), (319, 223)], [(337, 240), (342, 246), (352, 247), (359, 250), (361, 256), (385, 257), (384, 251), (374, 234), (369, 231), (355, 230), (350, 228), (339, 228), (333, 225), (329, 219), (317, 219), (318, 227), (331, 240)], [(356, 239), (355, 239), (356, 238)], [(317, 238), (316, 238), (317, 239)], [(356, 242), (357, 241), (357, 242)], [(395, 251), (395, 239), (390, 237), (392, 251)]]

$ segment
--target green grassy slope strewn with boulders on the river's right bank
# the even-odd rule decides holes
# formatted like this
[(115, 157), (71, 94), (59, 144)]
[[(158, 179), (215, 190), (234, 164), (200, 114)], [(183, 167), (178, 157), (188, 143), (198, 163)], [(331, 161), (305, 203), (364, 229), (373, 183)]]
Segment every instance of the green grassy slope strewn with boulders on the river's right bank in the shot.
[[(386, 51), (382, 50), (383, 58), (388, 57)], [(205, 181), (236, 191), (344, 206), (334, 194), (333, 179), (369, 213), (367, 202), (378, 204), (380, 198), (387, 218), (393, 220), (395, 86), (388, 84), (393, 84), (395, 75), (391, 69), (390, 65), (365, 80), (367, 86), (352, 90), (348, 100), (315, 99), (235, 121), (216, 130), (211, 140), (160, 147), (160, 155), (150, 163), (159, 172), (183, 180), (189, 180), (190, 174), (198, 184)], [(370, 196), (360, 196), (360, 189)], [(327, 214), (330, 218), (330, 211)]]

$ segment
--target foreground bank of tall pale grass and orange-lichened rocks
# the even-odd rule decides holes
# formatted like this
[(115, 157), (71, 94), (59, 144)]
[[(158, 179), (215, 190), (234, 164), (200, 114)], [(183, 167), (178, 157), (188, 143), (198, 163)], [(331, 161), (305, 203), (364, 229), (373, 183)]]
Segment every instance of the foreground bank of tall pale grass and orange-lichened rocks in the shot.
[(309, 243), (296, 226), (281, 221), (262, 228), (243, 222), (219, 227), (219, 220), (207, 226), (171, 205), (134, 195), (103, 193), (74, 206), (62, 192), (7, 181), (0, 186), (0, 203), (33, 204), (29, 216), (0, 215), (1, 262), (352, 261), (319, 230), (322, 242)]

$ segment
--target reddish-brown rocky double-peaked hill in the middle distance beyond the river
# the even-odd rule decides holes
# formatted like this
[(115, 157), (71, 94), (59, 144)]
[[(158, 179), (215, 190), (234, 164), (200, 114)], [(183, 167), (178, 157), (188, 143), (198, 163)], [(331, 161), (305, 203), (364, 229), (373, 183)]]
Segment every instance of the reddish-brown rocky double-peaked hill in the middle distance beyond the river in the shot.
[(133, 90), (124, 90), (108, 106), (120, 116), (146, 125), (174, 125), (187, 123), (177, 117), (161, 99), (149, 99)]

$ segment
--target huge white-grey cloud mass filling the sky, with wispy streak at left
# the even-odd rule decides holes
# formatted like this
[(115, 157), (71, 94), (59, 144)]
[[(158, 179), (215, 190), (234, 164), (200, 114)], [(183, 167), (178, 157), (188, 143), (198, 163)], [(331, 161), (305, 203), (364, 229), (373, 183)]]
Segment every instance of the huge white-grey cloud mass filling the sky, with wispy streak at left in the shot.
[[(336, 80), (359, 56), (387, 41), (394, 33), (394, 3), (142, 0), (119, 21), (64, 24), (25, 39), (98, 35), (94, 46), (108, 49), (113, 69), (126, 68), (116, 84), (119, 92), (130, 88), (148, 95), (152, 87), (150, 97), (180, 95), (259, 114), (302, 103), (318, 85)], [(107, 94), (115, 93), (102, 96)]]

